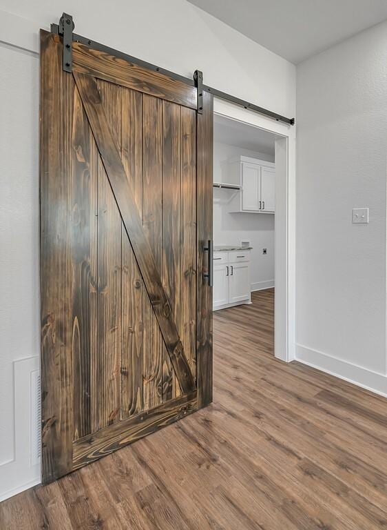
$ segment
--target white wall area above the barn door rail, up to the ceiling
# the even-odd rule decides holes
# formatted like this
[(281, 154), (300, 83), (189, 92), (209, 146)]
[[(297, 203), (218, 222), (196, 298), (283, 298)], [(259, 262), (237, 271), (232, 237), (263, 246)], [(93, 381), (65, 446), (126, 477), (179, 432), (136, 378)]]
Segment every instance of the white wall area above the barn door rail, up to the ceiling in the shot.
[(295, 66), (185, 0), (0, 0), (0, 10), (30, 19), (34, 35), (65, 11), (76, 33), (181, 75), (198, 68), (207, 85), (294, 115)]

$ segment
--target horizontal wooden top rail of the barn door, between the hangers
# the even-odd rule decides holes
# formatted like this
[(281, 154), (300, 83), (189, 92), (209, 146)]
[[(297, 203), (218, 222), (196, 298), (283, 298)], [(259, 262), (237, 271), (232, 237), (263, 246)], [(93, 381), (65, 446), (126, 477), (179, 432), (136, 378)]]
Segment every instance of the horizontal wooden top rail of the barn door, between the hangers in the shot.
[(173, 101), (193, 109), (197, 108), (196, 88), (109, 55), (92, 50), (79, 42), (72, 45), (73, 65), (77, 70), (148, 94)]

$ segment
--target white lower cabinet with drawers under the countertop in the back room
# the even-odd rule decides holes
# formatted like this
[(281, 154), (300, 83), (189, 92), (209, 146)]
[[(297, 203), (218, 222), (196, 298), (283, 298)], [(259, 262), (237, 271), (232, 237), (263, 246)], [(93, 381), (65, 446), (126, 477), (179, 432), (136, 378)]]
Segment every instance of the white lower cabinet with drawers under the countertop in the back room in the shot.
[(214, 253), (213, 309), (250, 302), (250, 251)]

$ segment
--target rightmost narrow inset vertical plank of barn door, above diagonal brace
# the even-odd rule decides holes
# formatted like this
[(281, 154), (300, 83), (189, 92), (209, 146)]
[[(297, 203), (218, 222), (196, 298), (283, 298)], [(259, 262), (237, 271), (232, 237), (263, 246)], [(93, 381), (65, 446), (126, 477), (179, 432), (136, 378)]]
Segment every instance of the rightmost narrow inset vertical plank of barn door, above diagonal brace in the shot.
[[(196, 378), (196, 112), (181, 108), (181, 333)], [(210, 212), (207, 212), (210, 215)]]

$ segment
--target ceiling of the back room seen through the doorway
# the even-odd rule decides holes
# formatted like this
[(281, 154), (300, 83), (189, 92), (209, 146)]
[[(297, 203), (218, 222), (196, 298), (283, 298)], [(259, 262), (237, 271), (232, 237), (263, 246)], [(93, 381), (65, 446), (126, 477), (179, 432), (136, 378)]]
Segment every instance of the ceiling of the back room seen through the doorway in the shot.
[(273, 133), (222, 116), (213, 117), (213, 139), (221, 144), (274, 156)]

